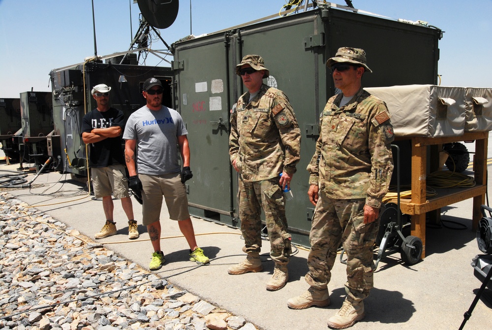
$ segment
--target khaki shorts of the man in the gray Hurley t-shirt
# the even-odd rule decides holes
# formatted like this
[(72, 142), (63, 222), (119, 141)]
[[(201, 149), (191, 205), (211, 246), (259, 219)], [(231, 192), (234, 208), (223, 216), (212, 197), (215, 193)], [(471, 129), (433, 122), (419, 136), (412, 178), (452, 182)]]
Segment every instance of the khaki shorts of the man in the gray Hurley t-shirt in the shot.
[(142, 223), (144, 226), (160, 220), (163, 196), (171, 220), (181, 221), (190, 217), (186, 189), (181, 183), (179, 172), (162, 175), (138, 174), (138, 177), (143, 187)]

